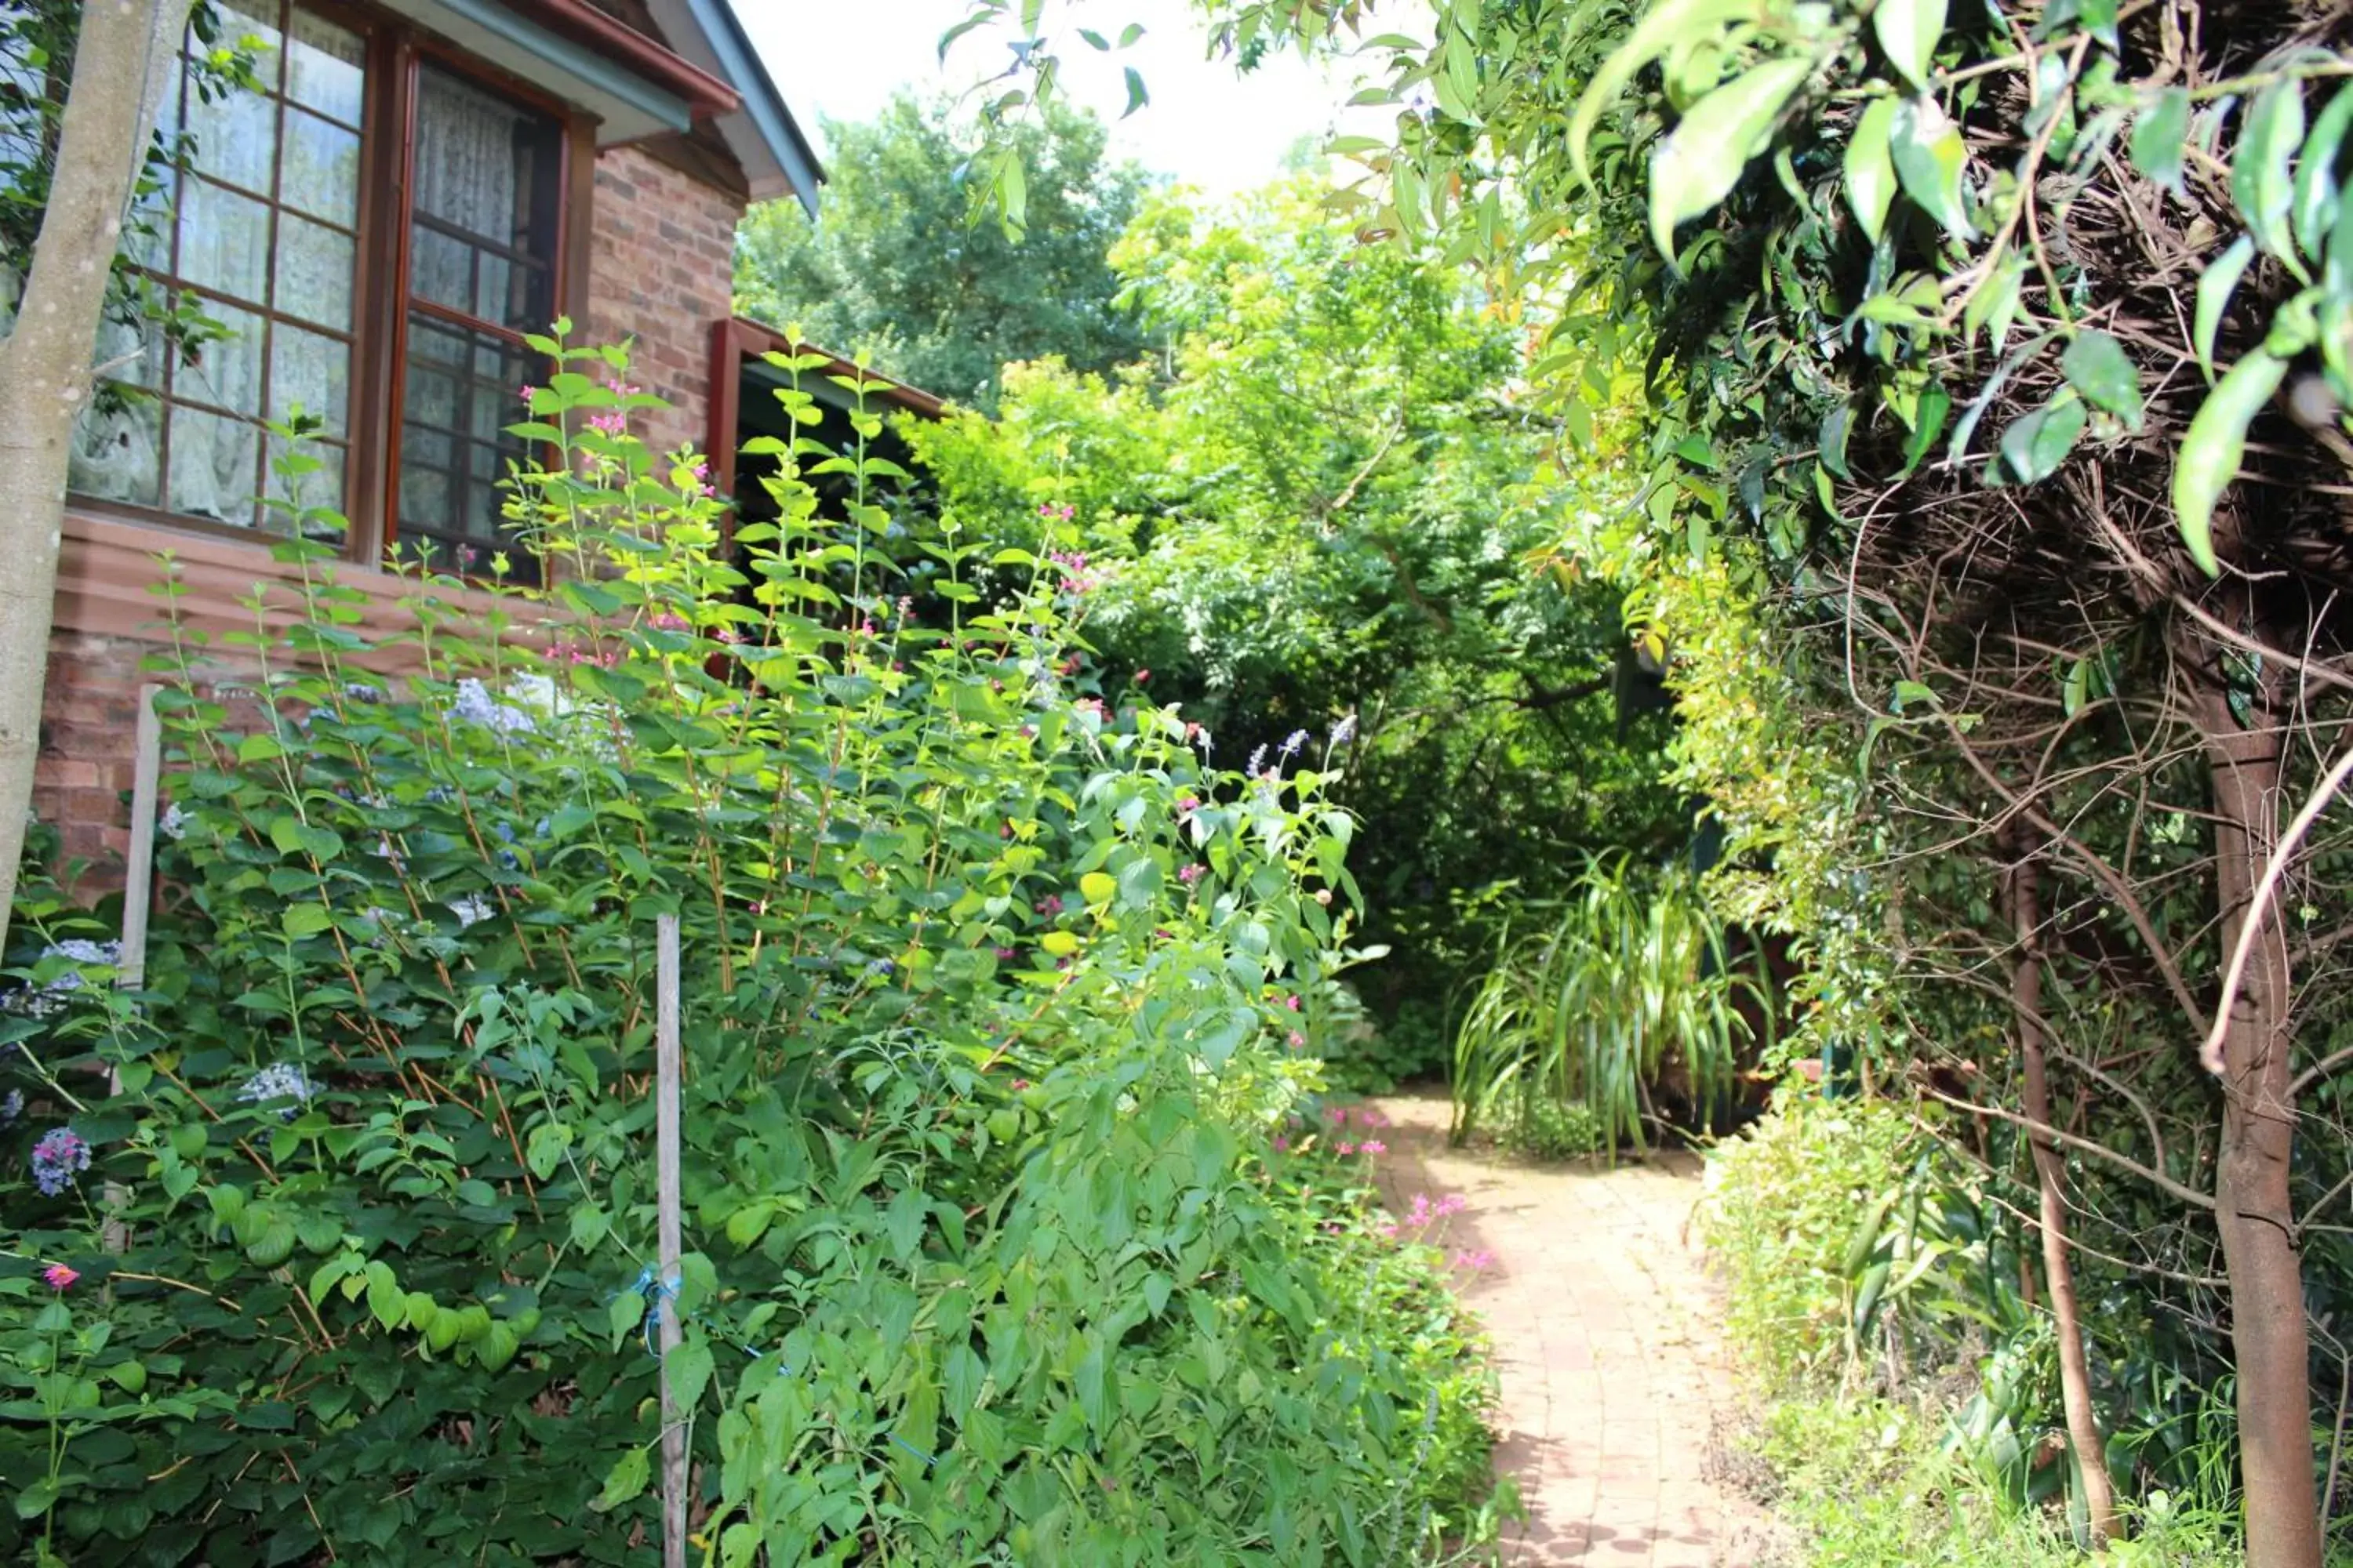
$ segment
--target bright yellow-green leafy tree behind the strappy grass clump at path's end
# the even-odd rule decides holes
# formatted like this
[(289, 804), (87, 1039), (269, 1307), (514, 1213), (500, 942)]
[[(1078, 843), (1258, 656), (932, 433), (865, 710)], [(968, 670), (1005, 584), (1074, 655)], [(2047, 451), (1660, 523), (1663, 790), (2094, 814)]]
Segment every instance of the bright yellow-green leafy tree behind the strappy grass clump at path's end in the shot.
[(1555, 550), (1588, 494), (1508, 386), (1513, 329), (1360, 244), (1313, 181), (1155, 197), (1111, 261), (1160, 357), (1014, 367), (995, 421), (908, 435), (944, 515), (1045, 508), (1035, 548), (1101, 578), (1108, 677), (1181, 701), (1219, 759), (1353, 731), (1332, 790), (1365, 823), (1362, 936), (1388, 954), (1353, 976), (1379, 1032), (1341, 1065), (1438, 1072), (1515, 898), (1685, 832), (1657, 719), (1612, 703), (1619, 592)]

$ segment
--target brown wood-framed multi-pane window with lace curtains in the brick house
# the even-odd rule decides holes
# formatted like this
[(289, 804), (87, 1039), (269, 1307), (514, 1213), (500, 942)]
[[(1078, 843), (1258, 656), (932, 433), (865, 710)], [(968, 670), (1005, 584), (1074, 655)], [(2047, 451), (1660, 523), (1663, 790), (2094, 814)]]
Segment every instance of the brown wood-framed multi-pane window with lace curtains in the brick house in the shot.
[(261, 92), (207, 101), (184, 73), (165, 132), (195, 158), (165, 193), (176, 221), (134, 254), (221, 336), (172, 362), (115, 334), (101, 360), (132, 395), (82, 421), (71, 489), (280, 529), (256, 501), (280, 484), (264, 421), (301, 409), (325, 463), (301, 498), (344, 510), (355, 552), (487, 569), (496, 482), (527, 456), (501, 425), (541, 374), (522, 334), (562, 310), (576, 127), (360, 14), (221, 12), (261, 40)]

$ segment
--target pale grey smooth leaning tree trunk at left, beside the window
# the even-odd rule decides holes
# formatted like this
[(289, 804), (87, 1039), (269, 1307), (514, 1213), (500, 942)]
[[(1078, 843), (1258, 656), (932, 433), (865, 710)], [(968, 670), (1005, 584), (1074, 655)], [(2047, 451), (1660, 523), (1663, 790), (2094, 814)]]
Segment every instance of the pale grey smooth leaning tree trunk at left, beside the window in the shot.
[(89, 402), (99, 313), (191, 0), (89, 0), (59, 118), (49, 207), (0, 341), (0, 945), (40, 755), (66, 456)]

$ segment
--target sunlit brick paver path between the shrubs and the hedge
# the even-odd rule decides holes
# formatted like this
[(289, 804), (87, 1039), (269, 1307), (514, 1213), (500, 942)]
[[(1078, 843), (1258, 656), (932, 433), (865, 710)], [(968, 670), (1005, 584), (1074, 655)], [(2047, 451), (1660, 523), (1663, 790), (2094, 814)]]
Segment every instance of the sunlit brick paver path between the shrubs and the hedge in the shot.
[(1381, 1182), (1400, 1211), (1459, 1192), (1449, 1251), (1494, 1255), (1464, 1286), (1501, 1378), (1497, 1469), (1527, 1523), (1504, 1561), (1753, 1568), (1753, 1512), (1706, 1479), (1734, 1403), (1715, 1295), (1685, 1229), (1699, 1161), (1534, 1166), (1447, 1147), (1447, 1103), (1379, 1100)]

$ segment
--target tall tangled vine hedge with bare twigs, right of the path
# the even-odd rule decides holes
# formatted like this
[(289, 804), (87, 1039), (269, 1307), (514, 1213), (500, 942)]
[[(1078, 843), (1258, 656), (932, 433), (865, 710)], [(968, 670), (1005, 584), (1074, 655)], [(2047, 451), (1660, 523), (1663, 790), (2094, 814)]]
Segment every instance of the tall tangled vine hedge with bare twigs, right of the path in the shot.
[(1202, 9), (1242, 59), (1362, 47), (1395, 134), (1337, 148), (1334, 202), (1478, 266), (1562, 437), (1633, 480), (1588, 538), (1675, 649), (1715, 891), (1798, 940), (1807, 1039), (1967, 1112), (2040, 1255), (2049, 1434), (2097, 1476), (2228, 1392), (2247, 1561), (2320, 1563), (2353, 1366), (2346, 14)]

